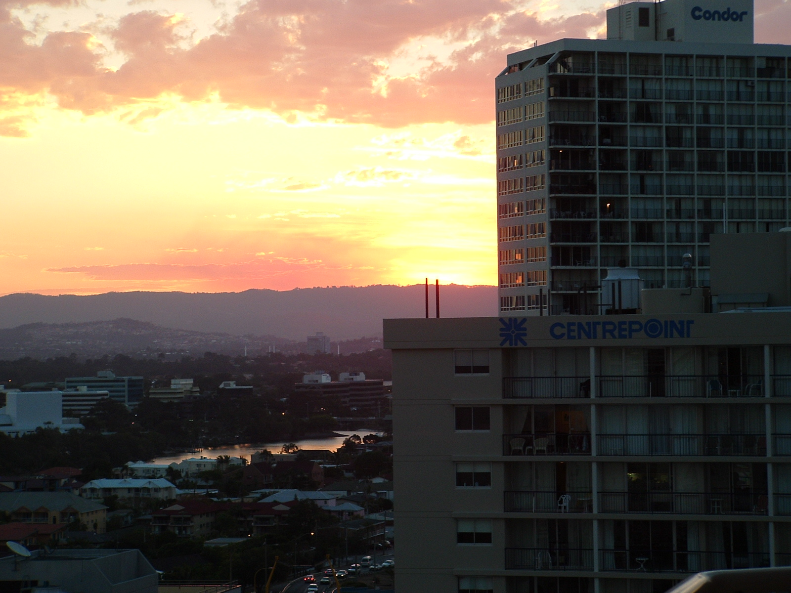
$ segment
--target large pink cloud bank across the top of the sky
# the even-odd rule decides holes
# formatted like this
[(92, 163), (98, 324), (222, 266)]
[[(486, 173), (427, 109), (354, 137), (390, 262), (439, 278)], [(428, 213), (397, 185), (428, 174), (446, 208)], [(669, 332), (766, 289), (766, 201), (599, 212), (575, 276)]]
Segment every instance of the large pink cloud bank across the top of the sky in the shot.
[[(68, 2), (59, 2), (68, 4)], [(190, 45), (176, 18), (130, 13), (110, 32), (126, 62), (100, 65), (85, 32), (51, 32), (39, 46), (0, 0), (0, 88), (47, 92), (85, 113), (176, 93), (217, 93), (237, 107), (299, 110), (348, 122), (482, 123), (491, 119), (492, 80), (505, 54), (533, 40), (585, 36), (604, 13), (540, 21), (505, 0), (252, 0), (213, 36)], [(411, 40), (469, 40), (446, 62), (374, 85)], [(146, 115), (155, 115), (150, 111)], [(2, 122), (0, 122), (2, 124)], [(9, 130), (19, 124), (9, 122)]]

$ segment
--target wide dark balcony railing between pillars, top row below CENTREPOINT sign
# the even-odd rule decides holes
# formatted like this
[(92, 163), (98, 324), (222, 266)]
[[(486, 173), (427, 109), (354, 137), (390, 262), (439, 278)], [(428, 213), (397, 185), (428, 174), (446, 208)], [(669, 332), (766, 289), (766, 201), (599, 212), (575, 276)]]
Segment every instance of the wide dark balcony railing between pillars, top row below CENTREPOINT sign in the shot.
[[(668, 336), (680, 333), (680, 327), (668, 327)], [(783, 376), (783, 380), (791, 383), (791, 377)], [(760, 398), (764, 395), (763, 376), (752, 375), (598, 376), (596, 382), (600, 398)]]

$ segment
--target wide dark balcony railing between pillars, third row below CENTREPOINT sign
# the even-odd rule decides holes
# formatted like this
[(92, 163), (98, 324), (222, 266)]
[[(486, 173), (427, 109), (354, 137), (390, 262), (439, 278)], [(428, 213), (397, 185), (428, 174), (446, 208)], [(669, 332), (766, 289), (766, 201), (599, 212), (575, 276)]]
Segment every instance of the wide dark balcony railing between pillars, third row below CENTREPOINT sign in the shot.
[(673, 513), (677, 515), (766, 515), (768, 508), (769, 497), (766, 494), (756, 493), (599, 493), (599, 512)]

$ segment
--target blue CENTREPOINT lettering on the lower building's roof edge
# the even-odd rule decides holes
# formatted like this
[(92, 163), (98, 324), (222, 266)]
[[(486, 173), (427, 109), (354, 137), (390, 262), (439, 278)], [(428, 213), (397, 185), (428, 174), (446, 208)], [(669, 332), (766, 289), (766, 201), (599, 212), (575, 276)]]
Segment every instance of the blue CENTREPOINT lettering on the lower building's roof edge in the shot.
[(606, 340), (631, 338), (690, 338), (693, 319), (649, 319), (642, 321), (570, 321), (553, 323), (549, 334), (555, 340)]

